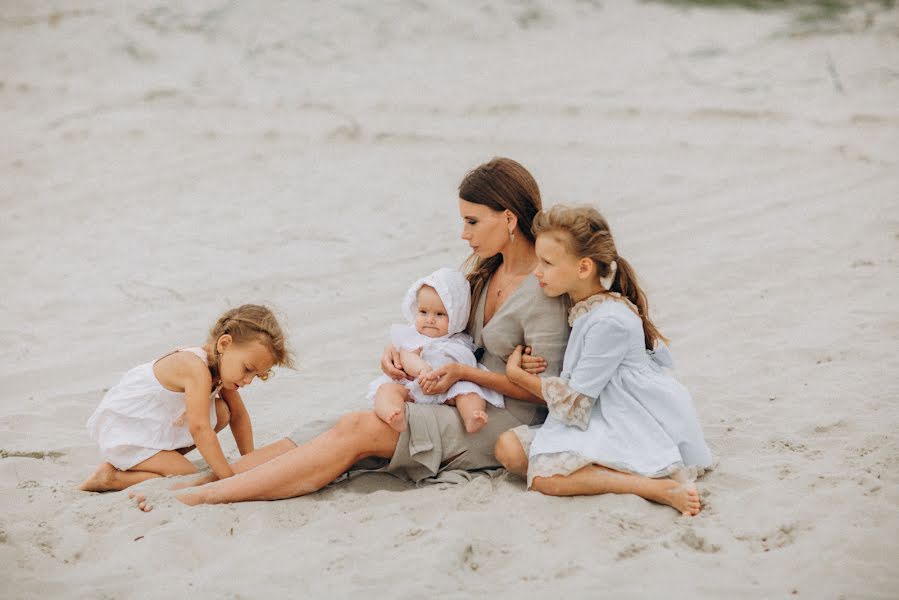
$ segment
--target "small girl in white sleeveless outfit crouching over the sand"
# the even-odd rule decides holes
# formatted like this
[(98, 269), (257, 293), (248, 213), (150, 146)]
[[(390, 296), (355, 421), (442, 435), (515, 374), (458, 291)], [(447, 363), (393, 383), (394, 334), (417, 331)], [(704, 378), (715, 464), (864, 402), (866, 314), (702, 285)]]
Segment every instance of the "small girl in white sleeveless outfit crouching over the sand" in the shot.
[(241, 455), (253, 451), (250, 415), (238, 390), (255, 377), (267, 379), (274, 365), (293, 365), (281, 327), (266, 307), (244, 304), (216, 321), (203, 346), (131, 369), (88, 419), (107, 462), (80, 489), (123, 490), (154, 477), (196, 473), (184, 457), (194, 447), (219, 479), (230, 477), (216, 432), (230, 425)]

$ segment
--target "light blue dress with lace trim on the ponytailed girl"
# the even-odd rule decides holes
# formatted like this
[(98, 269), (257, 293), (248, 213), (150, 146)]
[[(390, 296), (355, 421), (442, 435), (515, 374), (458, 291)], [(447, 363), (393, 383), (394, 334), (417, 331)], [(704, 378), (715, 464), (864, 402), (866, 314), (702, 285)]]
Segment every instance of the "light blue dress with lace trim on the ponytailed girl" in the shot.
[(544, 397), (551, 396), (548, 404), (566, 394), (595, 403), (589, 417), (584, 414), (586, 429), (550, 411), (530, 446), (528, 483), (591, 463), (648, 477), (711, 466), (690, 393), (663, 368), (670, 366), (667, 348), (646, 351), (632, 305), (601, 294), (579, 302), (571, 314), (562, 373), (555, 382), (544, 380)]

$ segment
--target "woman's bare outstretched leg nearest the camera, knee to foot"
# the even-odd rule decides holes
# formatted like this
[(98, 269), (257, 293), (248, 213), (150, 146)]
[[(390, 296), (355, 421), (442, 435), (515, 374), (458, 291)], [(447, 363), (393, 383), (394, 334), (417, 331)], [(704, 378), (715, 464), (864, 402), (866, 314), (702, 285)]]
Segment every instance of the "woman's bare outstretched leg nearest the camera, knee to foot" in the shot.
[(399, 437), (374, 412), (351, 413), (333, 428), (273, 460), (178, 499), (193, 506), (302, 496), (323, 488), (363, 458), (390, 458)]

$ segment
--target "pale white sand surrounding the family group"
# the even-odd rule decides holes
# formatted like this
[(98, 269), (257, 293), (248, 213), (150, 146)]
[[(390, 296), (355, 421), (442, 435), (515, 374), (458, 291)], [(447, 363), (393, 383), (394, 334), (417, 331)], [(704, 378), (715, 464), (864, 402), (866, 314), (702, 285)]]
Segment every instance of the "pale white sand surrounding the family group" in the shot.
[[(0, 595), (899, 595), (899, 11), (132, 4), (0, 4)], [(258, 444), (363, 407), (494, 155), (645, 280), (720, 457), (699, 517), (505, 476), (75, 491), (103, 389), (241, 302), (302, 365), (246, 391)]]

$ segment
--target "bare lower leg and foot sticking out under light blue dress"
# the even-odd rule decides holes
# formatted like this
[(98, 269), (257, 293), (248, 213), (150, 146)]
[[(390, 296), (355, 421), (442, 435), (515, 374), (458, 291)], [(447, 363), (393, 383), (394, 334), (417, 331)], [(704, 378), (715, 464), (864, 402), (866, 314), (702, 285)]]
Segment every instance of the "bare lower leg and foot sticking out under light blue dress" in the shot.
[(636, 494), (646, 500), (666, 504), (684, 516), (699, 513), (701, 503), (696, 485), (673, 479), (651, 479), (587, 465), (568, 476), (534, 477), (531, 489), (550, 496), (590, 496), (595, 494)]

